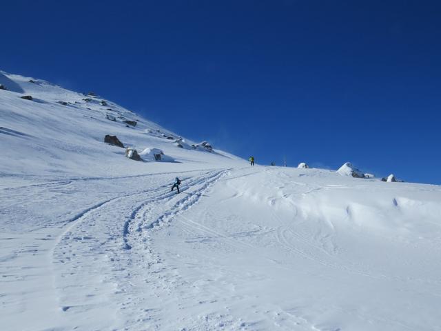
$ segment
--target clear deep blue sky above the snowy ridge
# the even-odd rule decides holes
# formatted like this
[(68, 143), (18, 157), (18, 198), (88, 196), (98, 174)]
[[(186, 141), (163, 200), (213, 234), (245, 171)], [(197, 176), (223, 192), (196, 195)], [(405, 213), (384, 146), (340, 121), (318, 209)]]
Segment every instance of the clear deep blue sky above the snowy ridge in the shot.
[(257, 163), (441, 184), (440, 1), (3, 1), (0, 69)]

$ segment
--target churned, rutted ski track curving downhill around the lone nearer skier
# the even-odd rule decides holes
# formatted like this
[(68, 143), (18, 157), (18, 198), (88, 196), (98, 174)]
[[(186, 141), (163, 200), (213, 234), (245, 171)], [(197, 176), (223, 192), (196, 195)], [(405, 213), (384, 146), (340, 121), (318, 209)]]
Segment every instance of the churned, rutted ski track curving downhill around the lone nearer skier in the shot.
[[(198, 203), (203, 194), (228, 172), (229, 170), (211, 170), (200, 176), (184, 177), (181, 194), (176, 194), (176, 191), (170, 192), (169, 184), (141, 192), (121, 194), (96, 203), (65, 221), (65, 230), (55, 241), (51, 253), (54, 287), (60, 292), (61, 310), (66, 314), (83, 310), (100, 313), (103, 308), (94, 303), (96, 295), (118, 297), (118, 303), (112, 308), (105, 308), (105, 312), (111, 309), (118, 316), (127, 311), (128, 307), (136, 310), (136, 304), (145, 300), (145, 297), (132, 297), (130, 293), (134, 292), (136, 281), (144, 283), (145, 286), (146, 274), (155, 276), (156, 290), (160, 286), (161, 290), (171, 294), (171, 286), (178, 282), (178, 275), (174, 271), (170, 274), (170, 271), (162, 266), (161, 257), (150, 248), (148, 232), (162, 228), (176, 215), (192, 208), (192, 205)], [(111, 215), (123, 219), (124, 213), (128, 213), (129, 216), (125, 217), (123, 222), (109, 219)], [(121, 230), (118, 230), (118, 224)], [(93, 253), (98, 251), (101, 252), (101, 257)], [(150, 272), (146, 273), (145, 268), (149, 268)], [(81, 270), (95, 272), (81, 275)], [(129, 272), (127, 270), (130, 270), (130, 277), (126, 274)], [(123, 283), (121, 279), (124, 280)], [(149, 282), (152, 283), (152, 280)], [(63, 292), (72, 286), (77, 288), (76, 295), (63, 297)], [(90, 288), (95, 289), (93, 295), (88, 293)], [(146, 310), (145, 317), (132, 323), (145, 325), (146, 321), (154, 321), (152, 314), (155, 312), (155, 309)], [(109, 321), (109, 325), (116, 323), (111, 322)]]

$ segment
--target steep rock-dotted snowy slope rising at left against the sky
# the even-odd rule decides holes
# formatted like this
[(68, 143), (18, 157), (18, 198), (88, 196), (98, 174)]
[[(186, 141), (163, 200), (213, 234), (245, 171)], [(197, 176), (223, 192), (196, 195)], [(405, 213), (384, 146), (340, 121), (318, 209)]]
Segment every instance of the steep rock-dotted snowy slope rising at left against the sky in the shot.
[[(232, 160), (244, 162), (223, 151), (216, 150), (209, 153), (211, 156), (199, 152), (212, 150), (207, 143), (198, 144), (199, 148), (194, 150), (193, 141), (94, 92), (72, 92), (41, 79), (4, 72), (0, 73), (0, 84), (7, 88), (0, 90), (0, 126), (4, 132), (17, 132), (0, 134), (0, 147), (11, 151), (9, 157), (0, 162), (0, 173), (14, 169), (21, 174), (91, 176), (104, 174), (108, 171), (107, 165), (112, 165), (112, 168), (138, 174), (146, 171), (144, 167), (151, 166), (141, 162), (127, 164), (121, 158), (123, 151), (104, 143), (106, 134), (118, 137), (123, 146), (138, 151), (147, 146), (159, 148), (170, 157), (165, 158), (167, 161), (191, 160), (201, 166), (208, 162), (214, 167)], [(33, 100), (21, 99), (27, 95)], [(164, 168), (167, 163), (158, 163), (160, 165)]]

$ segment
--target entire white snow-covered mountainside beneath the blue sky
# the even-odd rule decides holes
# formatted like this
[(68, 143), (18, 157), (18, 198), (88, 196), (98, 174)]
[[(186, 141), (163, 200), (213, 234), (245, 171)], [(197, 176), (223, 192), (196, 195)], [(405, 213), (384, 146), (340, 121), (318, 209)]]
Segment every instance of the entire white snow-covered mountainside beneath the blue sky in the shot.
[(251, 167), (0, 78), (1, 330), (441, 330), (440, 186)]

